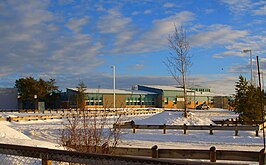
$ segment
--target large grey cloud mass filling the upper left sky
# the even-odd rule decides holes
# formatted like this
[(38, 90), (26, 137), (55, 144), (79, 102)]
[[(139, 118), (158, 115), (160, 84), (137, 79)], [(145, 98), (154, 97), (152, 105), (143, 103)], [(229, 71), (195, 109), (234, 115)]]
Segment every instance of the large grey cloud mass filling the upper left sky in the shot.
[[(101, 65), (103, 45), (82, 34), (86, 17), (71, 19), (66, 30), (57, 13), (49, 11), (49, 1), (0, 2), (0, 74), (60, 75), (88, 73)], [(57, 23), (58, 22), (58, 23)]]

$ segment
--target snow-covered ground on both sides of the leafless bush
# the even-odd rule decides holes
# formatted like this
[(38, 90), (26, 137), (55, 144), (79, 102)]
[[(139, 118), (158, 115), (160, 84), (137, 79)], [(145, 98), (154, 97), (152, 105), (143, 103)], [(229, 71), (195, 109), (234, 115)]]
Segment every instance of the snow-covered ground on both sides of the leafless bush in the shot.
[[(23, 115), (16, 113), (2, 113), (2, 116)], [(130, 116), (123, 118), (124, 121), (134, 120), (136, 124), (167, 124), (167, 125), (209, 125), (212, 120), (222, 120), (237, 117), (233, 112), (223, 109), (191, 110), (189, 117), (184, 119), (180, 111), (165, 111), (154, 115)], [(110, 121), (113, 119), (110, 118)], [(65, 119), (6, 122), (0, 121), (0, 143), (19, 144), (63, 149), (59, 146), (60, 129)], [(111, 127), (110, 122), (110, 127)], [(122, 141), (119, 146), (123, 147), (152, 147), (159, 148), (193, 148), (259, 151), (263, 148), (262, 132), (259, 137), (255, 131), (239, 131), (239, 136), (234, 136), (234, 131), (214, 131), (209, 135), (208, 130), (190, 131), (183, 134), (182, 130), (137, 130), (136, 134), (131, 129), (122, 132)]]

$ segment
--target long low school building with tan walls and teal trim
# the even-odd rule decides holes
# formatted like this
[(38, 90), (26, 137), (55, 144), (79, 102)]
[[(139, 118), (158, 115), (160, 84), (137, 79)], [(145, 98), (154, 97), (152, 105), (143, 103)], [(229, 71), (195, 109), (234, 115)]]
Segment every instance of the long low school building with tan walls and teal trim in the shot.
[[(77, 88), (67, 88), (62, 94), (63, 108), (76, 108)], [(228, 96), (211, 92), (209, 88), (191, 87), (186, 89), (187, 107), (195, 108), (197, 105), (206, 103), (214, 108), (228, 108)], [(113, 89), (85, 90), (84, 105), (91, 108), (113, 108)], [(137, 85), (133, 90), (115, 90), (116, 108), (176, 108), (184, 107), (183, 88), (176, 86)]]

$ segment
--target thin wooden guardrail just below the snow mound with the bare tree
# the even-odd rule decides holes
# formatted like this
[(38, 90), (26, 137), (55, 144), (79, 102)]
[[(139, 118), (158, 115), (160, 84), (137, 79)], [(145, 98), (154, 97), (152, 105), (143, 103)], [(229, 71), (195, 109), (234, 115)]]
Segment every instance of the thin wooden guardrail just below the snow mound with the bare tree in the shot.
[(124, 123), (122, 125), (113, 125), (113, 128), (120, 129), (132, 129), (132, 133), (136, 133), (137, 129), (161, 129), (163, 134), (166, 134), (166, 130), (183, 130), (184, 134), (187, 134), (188, 130), (209, 130), (210, 135), (213, 135), (214, 130), (234, 130), (235, 136), (238, 136), (238, 131), (255, 131), (255, 135), (259, 136), (260, 126), (248, 126), (248, 125), (235, 125), (235, 126), (219, 126), (219, 125), (135, 125), (134, 121)]

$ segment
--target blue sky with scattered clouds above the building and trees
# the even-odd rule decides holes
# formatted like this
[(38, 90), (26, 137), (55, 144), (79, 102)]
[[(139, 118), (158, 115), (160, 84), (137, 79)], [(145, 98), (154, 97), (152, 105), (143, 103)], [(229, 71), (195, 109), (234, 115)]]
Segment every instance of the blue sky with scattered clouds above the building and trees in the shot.
[(190, 43), (191, 86), (234, 93), (240, 74), (250, 79), (245, 49), (253, 79), (256, 56), (266, 73), (265, 0), (2, 0), (0, 87), (32, 76), (112, 88), (112, 65), (116, 88), (176, 85), (164, 64), (174, 25)]

